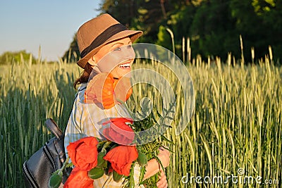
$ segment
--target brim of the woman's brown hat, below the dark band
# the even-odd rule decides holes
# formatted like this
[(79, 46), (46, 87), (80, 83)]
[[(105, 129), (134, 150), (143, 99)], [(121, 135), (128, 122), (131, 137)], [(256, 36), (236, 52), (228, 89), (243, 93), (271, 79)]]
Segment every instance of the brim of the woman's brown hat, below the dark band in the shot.
[(95, 49), (92, 49), (92, 51), (90, 51), (90, 53), (88, 53), (86, 56), (84, 56), (83, 58), (80, 58), (80, 60), (77, 63), (81, 68), (85, 68), (85, 65), (88, 62), (88, 60), (90, 60), (90, 58), (92, 58), (92, 56), (97, 54), (97, 52), (99, 51), (99, 49), (102, 48), (102, 46), (108, 44), (109, 42), (114, 42), (118, 39), (123, 39), (125, 37), (130, 37), (131, 42), (135, 42), (135, 40), (138, 39), (139, 37), (141, 37), (142, 34), (143, 34), (143, 32), (138, 31), (138, 30), (137, 31), (124, 30), (124, 31), (118, 32), (118, 33), (116, 33), (116, 35), (113, 35), (112, 37), (107, 39), (102, 45), (97, 46), (97, 48), (95, 48)]

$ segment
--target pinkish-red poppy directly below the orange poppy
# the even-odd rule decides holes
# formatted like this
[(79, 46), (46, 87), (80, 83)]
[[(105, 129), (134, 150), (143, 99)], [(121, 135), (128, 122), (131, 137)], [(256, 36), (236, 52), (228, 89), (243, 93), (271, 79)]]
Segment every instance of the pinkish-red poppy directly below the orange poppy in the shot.
[(133, 120), (129, 118), (111, 118), (111, 120), (103, 123), (103, 125), (110, 124), (109, 127), (104, 128), (103, 136), (118, 144), (131, 144), (135, 134), (133, 129), (126, 123), (132, 124)]

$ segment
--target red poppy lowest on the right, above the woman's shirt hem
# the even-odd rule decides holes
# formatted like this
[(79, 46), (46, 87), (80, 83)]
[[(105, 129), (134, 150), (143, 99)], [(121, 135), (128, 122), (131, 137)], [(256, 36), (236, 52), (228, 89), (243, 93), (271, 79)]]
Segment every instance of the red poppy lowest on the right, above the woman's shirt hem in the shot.
[(137, 158), (138, 152), (135, 146), (116, 146), (104, 156), (104, 160), (111, 163), (116, 173), (126, 176), (129, 175), (131, 165)]

